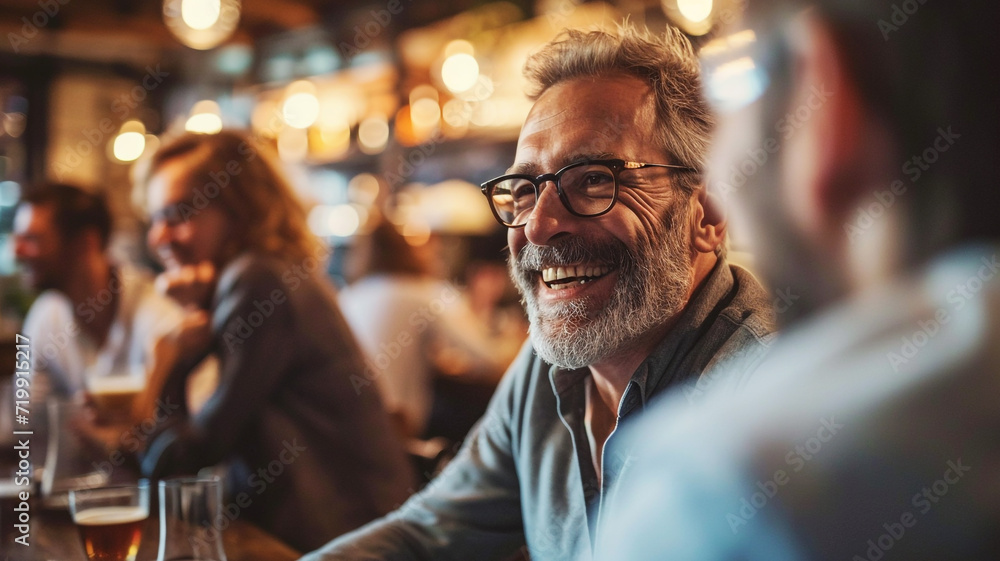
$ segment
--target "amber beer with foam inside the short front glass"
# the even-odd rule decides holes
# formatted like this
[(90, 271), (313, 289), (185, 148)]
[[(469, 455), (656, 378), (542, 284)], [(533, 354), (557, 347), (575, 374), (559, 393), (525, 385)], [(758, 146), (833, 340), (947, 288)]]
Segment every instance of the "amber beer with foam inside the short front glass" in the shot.
[(149, 509), (104, 506), (76, 513), (83, 549), (90, 561), (135, 561)]

